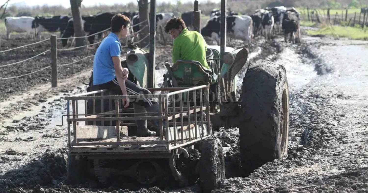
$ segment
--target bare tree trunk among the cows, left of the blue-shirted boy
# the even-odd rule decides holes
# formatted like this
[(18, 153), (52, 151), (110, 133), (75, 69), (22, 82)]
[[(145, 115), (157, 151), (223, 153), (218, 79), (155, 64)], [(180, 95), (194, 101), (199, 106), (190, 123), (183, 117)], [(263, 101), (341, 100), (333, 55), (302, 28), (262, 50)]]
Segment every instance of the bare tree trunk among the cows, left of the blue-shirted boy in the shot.
[(70, 0), (70, 8), (73, 16), (74, 23), (74, 35), (75, 35), (75, 47), (84, 46), (84, 38), (77, 38), (84, 36), (82, 28), (82, 15), (81, 15), (82, 0)]

